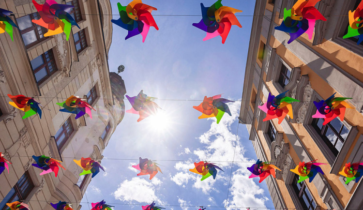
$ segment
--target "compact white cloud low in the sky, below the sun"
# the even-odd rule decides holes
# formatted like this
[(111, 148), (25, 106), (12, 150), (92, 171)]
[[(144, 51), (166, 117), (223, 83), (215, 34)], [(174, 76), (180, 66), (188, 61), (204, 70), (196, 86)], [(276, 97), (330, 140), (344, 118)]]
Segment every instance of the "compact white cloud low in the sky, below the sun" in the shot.
[[(156, 178), (153, 178), (156, 179)], [(113, 193), (115, 199), (121, 201), (137, 201), (137, 202), (151, 202), (153, 200), (160, 202), (159, 198), (155, 195), (155, 186), (160, 185), (160, 180), (149, 181), (138, 177), (131, 180), (124, 180), (119, 185), (119, 188)]]

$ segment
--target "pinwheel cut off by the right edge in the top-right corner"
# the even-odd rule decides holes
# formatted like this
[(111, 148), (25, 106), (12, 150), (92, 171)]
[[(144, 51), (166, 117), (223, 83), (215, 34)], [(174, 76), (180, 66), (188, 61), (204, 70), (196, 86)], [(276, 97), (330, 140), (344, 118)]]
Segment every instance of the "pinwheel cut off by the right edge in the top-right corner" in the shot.
[(348, 18), (349, 18), (349, 26), (347, 34), (343, 36), (343, 39), (350, 38), (350, 37), (357, 37), (357, 45), (360, 45), (363, 41), (363, 0), (359, 3), (356, 10), (349, 11)]

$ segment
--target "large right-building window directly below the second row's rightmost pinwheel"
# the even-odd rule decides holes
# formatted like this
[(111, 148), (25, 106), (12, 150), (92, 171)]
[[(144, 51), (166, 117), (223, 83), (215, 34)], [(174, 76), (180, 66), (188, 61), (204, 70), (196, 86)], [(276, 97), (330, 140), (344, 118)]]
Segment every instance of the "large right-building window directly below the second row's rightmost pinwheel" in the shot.
[(323, 119), (316, 118), (311, 125), (336, 157), (340, 149), (342, 149), (343, 143), (348, 136), (349, 129), (337, 118), (326, 125), (323, 125), (323, 122)]

